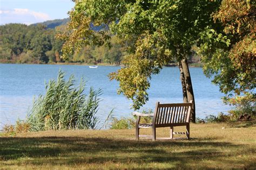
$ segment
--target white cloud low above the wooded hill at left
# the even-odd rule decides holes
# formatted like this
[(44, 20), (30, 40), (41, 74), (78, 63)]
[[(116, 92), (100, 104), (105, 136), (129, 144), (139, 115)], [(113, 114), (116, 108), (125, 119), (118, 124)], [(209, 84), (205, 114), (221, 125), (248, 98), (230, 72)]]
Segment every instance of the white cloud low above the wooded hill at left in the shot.
[(32, 24), (51, 19), (48, 14), (29, 9), (0, 10), (0, 24), (22, 23)]

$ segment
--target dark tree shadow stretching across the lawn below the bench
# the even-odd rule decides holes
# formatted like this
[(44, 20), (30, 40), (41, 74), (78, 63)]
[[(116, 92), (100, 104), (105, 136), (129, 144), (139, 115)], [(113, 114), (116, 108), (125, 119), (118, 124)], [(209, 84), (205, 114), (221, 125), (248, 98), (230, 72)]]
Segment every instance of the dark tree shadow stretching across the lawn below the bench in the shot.
[[(244, 145), (227, 142), (192, 140), (118, 140), (110, 138), (40, 137), (40, 138), (0, 138), (0, 160), (24, 159), (32, 165), (104, 164), (150, 164), (151, 162), (189, 167), (205, 159), (221, 161), (226, 157), (222, 148), (232, 150)], [(26, 159), (33, 158), (33, 159)], [(232, 160), (232, 159), (231, 159)], [(231, 164), (240, 164), (233, 161)], [(14, 163), (15, 164), (15, 163)], [(249, 165), (250, 166), (250, 165)], [(200, 166), (199, 166), (200, 167)], [(203, 168), (203, 167), (201, 167)]]

